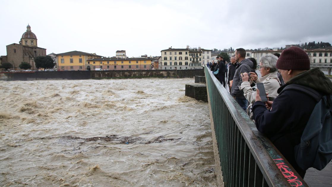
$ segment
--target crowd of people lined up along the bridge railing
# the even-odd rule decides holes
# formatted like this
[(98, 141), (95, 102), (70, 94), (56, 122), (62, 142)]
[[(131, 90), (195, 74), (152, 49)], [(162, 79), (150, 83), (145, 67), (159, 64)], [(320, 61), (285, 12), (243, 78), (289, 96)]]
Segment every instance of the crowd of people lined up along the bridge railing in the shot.
[[(230, 94), (298, 174), (325, 167), (332, 159), (332, 82), (318, 67), (310, 69), (307, 53), (290, 47), (280, 56), (262, 56), (258, 78), (256, 60), (238, 48), (229, 63), (220, 56), (209, 64), (224, 87), (225, 66)], [(263, 83), (268, 101), (262, 102), (256, 83)]]

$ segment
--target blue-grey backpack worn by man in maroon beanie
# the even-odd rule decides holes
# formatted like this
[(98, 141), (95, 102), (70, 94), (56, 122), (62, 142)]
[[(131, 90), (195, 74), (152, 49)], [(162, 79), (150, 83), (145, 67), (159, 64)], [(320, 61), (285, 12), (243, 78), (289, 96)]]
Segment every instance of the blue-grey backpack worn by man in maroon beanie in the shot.
[(286, 86), (282, 92), (285, 90), (306, 93), (317, 101), (294, 153), (296, 163), (301, 169), (313, 167), (322, 170), (332, 159), (332, 97), (322, 96), (309, 87), (297, 84)]

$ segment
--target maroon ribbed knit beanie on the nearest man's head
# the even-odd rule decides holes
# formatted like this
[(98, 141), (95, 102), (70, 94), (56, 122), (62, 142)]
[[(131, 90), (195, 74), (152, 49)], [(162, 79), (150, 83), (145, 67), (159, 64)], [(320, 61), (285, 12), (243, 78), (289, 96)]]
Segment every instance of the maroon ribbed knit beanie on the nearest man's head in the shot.
[(281, 53), (276, 67), (282, 70), (308, 70), (310, 69), (310, 60), (303, 49), (290, 47)]

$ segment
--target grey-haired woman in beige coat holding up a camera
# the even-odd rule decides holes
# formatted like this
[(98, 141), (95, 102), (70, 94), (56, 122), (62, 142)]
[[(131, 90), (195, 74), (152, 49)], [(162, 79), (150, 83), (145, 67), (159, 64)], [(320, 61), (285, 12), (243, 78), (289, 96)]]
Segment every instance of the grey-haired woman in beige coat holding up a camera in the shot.
[[(261, 57), (259, 63), (259, 71), (262, 77), (258, 79), (254, 72), (250, 72), (250, 80), (247, 73), (243, 73), (242, 84), (240, 89), (243, 90), (245, 98), (254, 103), (256, 98), (256, 92), (252, 90), (251, 83), (263, 83), (265, 92), (269, 94), (269, 99), (273, 101), (277, 96), (277, 90), (280, 88), (280, 80), (278, 78), (278, 69), (276, 68), (278, 57), (271, 54)], [(250, 81), (250, 82), (249, 82)]]

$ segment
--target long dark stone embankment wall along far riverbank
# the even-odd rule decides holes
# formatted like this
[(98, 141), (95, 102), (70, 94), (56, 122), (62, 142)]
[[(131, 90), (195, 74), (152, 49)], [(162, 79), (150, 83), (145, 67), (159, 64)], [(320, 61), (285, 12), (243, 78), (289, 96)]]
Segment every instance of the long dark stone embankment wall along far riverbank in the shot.
[(204, 76), (203, 69), (191, 70), (116, 70), (116, 71), (31, 71), (0, 72), (0, 80), (80, 80), (80, 79), (135, 79), (135, 78), (193, 78)]

